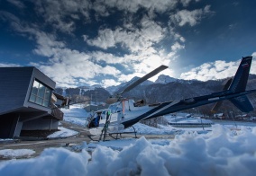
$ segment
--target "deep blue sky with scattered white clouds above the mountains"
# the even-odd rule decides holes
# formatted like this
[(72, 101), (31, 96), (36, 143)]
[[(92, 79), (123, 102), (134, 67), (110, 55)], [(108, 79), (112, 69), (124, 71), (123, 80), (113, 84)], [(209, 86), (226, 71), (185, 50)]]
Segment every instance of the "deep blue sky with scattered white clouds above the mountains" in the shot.
[(0, 66), (36, 66), (65, 87), (117, 85), (160, 65), (169, 66), (161, 74), (176, 78), (224, 78), (242, 57), (256, 56), (255, 6), (242, 0), (0, 0)]

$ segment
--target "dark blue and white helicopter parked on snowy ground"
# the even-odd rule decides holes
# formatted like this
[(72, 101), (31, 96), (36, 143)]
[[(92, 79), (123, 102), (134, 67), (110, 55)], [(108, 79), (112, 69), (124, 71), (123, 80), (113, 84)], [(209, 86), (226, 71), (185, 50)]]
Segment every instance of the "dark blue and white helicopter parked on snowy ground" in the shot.
[[(122, 92), (110, 97), (106, 101), (110, 103), (109, 108), (98, 111), (96, 113), (97, 117), (92, 118), (88, 123), (89, 132), (91, 135), (100, 135), (103, 133), (103, 130), (107, 130), (107, 133), (116, 133), (125, 128), (133, 127), (134, 124), (142, 119), (153, 119), (214, 102), (215, 105), (212, 111), (215, 111), (221, 106), (224, 100), (231, 101), (242, 112), (249, 112), (253, 110), (253, 106), (246, 95), (256, 92), (256, 89), (250, 91), (245, 90), (250, 73), (251, 61), (251, 56), (242, 57), (242, 61), (233, 79), (226, 82), (221, 92), (149, 105), (144, 105), (143, 100), (135, 102), (132, 99), (123, 98), (123, 92), (131, 91), (137, 85), (142, 84), (145, 80), (151, 78), (153, 75), (157, 75), (168, 67), (159, 66), (151, 71), (151, 73), (142, 76), (142, 78), (130, 84)], [(94, 122), (96, 122), (95, 125)]]

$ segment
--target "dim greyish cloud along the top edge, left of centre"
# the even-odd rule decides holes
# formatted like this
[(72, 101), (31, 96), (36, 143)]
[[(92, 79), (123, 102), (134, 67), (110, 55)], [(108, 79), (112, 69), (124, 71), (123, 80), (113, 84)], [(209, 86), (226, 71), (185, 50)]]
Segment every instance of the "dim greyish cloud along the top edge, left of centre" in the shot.
[[(9, 1), (15, 2), (15, 0)], [(93, 16), (90, 16), (90, 11), (92, 10), (96, 12), (95, 18), (97, 18), (97, 16), (108, 16), (110, 13), (113, 13), (113, 9), (117, 9), (121, 12), (136, 13), (140, 8), (144, 8), (149, 14), (152, 12), (165, 13), (174, 9), (178, 4), (178, 0), (165, 0), (160, 2), (154, 0), (46, 0), (36, 1), (34, 3), (36, 4), (37, 12), (43, 16), (45, 22), (53, 25), (59, 31), (72, 33), (76, 29), (76, 24), (73, 20), (82, 18), (86, 23), (90, 22), (91, 18), (93, 18)]]

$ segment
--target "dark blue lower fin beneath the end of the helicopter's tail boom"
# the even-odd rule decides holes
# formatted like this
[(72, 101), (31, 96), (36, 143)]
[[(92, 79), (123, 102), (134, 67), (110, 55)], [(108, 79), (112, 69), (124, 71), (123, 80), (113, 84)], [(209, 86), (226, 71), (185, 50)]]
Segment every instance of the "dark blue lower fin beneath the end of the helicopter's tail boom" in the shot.
[(232, 101), (233, 105), (236, 106), (242, 112), (250, 112), (251, 110), (253, 110), (251, 101), (249, 101), (246, 95), (229, 99), (229, 101)]

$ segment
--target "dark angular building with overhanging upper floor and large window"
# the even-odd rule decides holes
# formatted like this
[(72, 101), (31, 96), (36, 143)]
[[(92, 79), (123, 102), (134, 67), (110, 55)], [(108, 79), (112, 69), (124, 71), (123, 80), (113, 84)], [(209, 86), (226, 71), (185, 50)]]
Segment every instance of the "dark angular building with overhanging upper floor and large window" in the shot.
[(52, 102), (55, 84), (33, 66), (0, 67), (0, 138), (58, 129), (63, 113)]

